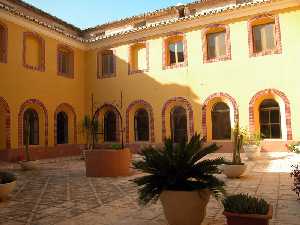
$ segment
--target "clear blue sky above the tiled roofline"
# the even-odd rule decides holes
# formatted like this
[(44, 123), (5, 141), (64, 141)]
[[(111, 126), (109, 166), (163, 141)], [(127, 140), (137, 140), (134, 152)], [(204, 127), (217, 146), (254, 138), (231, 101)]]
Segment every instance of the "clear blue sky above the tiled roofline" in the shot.
[(193, 0), (25, 0), (79, 28), (164, 8)]

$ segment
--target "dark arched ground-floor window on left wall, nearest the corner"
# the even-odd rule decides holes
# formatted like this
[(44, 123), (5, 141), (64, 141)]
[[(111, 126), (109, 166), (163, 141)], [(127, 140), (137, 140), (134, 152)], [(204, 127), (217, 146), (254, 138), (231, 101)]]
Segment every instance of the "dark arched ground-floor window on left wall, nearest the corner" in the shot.
[(56, 138), (57, 144), (68, 143), (68, 115), (65, 112), (59, 112), (56, 116)]

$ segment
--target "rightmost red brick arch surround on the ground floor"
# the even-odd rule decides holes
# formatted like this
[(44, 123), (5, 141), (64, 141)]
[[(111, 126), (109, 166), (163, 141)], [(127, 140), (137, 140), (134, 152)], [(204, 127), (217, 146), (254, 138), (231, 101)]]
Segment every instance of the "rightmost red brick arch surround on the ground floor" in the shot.
[(275, 96), (278, 96), (282, 99), (285, 105), (285, 120), (286, 120), (286, 129), (287, 129), (287, 140), (292, 140), (293, 135), (292, 135), (292, 123), (291, 123), (291, 108), (290, 108), (290, 101), (287, 98), (287, 96), (277, 90), (277, 89), (264, 89), (262, 91), (257, 92), (251, 99), (249, 103), (249, 127), (251, 131), (255, 130), (255, 125), (254, 125), (254, 104), (257, 101), (259, 97), (262, 97), (267, 94), (272, 94)]

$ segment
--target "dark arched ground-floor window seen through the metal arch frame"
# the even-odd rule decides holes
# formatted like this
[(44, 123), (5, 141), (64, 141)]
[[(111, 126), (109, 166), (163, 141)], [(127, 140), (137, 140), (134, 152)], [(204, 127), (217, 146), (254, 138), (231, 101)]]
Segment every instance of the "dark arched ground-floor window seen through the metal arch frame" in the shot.
[(117, 140), (117, 118), (112, 111), (107, 111), (104, 115), (104, 141), (113, 142)]

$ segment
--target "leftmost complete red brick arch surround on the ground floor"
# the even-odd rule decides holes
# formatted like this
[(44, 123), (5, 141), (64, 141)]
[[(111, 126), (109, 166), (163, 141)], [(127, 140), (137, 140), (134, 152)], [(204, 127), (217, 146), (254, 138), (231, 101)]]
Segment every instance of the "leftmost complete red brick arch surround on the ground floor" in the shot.
[(19, 148), (23, 147), (23, 115), (26, 107), (28, 105), (37, 105), (44, 112), (45, 116), (45, 146), (48, 146), (48, 111), (45, 105), (38, 99), (28, 99), (20, 106), (18, 115), (18, 138), (19, 138)]

